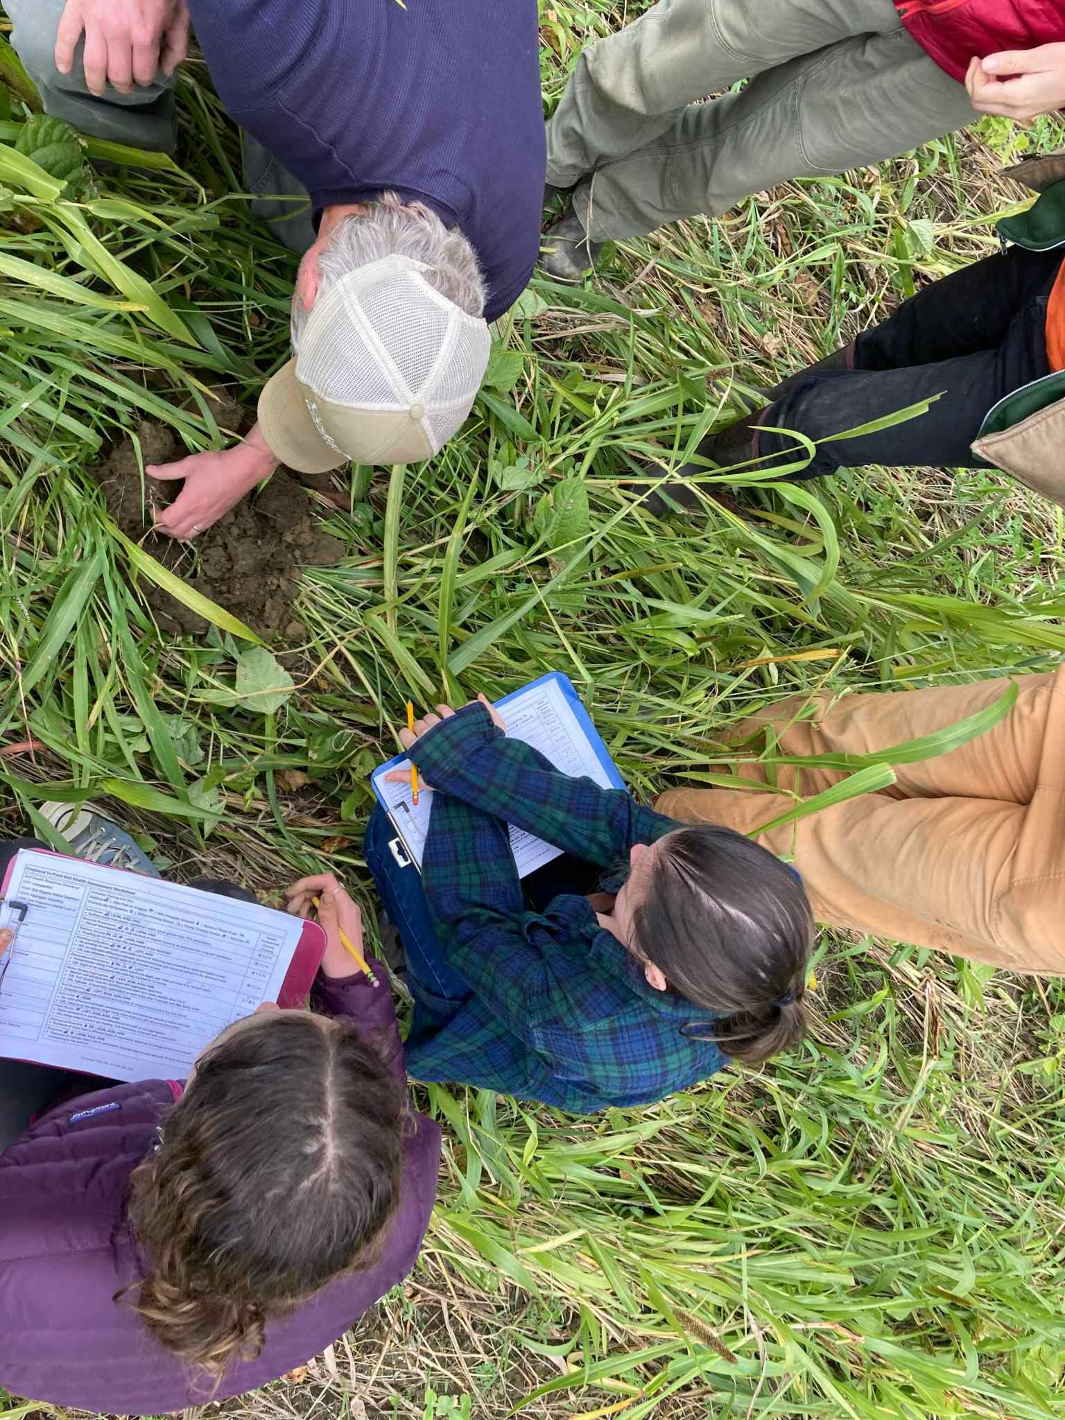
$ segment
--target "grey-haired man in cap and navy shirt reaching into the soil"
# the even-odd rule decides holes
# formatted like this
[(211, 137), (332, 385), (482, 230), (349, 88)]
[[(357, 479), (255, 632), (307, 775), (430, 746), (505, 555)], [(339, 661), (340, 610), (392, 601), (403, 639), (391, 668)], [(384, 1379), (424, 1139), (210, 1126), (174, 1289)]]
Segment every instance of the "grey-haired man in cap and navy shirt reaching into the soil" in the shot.
[(535, 0), (4, 0), (47, 112), (169, 151), (189, 24), (244, 129), (257, 212), (302, 251), (293, 359), (239, 444), (156, 477), (190, 538), (278, 463), (433, 457), (469, 415), (488, 324), (540, 247)]

